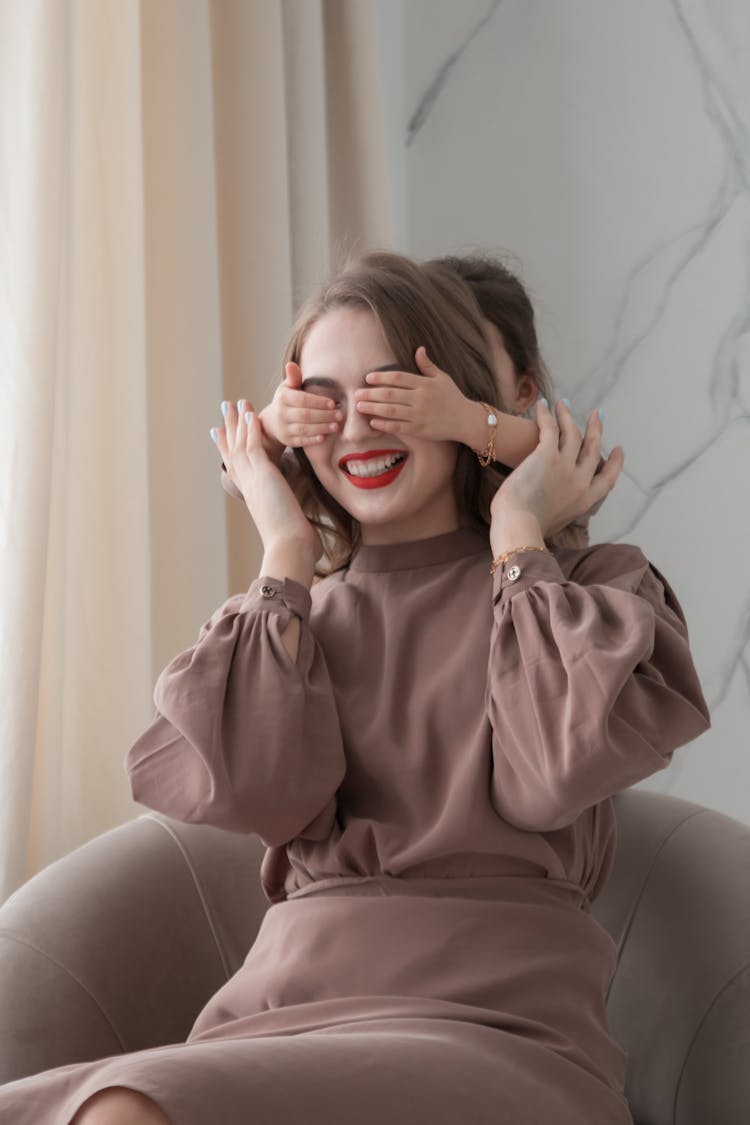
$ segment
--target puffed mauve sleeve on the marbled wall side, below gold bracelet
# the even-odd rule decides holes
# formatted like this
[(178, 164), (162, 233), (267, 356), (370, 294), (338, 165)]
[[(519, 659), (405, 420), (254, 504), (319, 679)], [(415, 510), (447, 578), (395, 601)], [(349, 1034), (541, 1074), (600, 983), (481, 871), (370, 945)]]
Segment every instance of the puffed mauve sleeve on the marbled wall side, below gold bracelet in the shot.
[(493, 582), (491, 798), (533, 831), (663, 770), (711, 726), (683, 610), (640, 548), (603, 543), (567, 570), (522, 551)]

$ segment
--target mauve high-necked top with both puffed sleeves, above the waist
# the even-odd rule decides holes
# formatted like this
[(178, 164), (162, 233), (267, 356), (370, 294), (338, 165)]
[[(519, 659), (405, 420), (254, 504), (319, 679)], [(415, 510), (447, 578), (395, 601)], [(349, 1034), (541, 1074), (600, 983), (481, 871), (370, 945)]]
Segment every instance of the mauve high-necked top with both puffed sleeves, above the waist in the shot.
[(711, 726), (685, 616), (630, 543), (490, 561), (461, 528), (363, 546), (310, 591), (256, 578), (159, 676), (135, 800), (259, 834), (270, 902), (523, 871), (593, 900), (612, 795)]

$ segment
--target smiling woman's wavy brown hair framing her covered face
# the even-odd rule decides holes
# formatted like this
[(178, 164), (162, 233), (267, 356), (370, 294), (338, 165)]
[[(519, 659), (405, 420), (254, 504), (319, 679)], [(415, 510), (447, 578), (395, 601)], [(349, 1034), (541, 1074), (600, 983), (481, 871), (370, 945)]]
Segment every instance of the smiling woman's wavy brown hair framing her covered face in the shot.
[[(467, 398), (497, 404), (508, 413), (500, 399), (486, 331), (486, 321), (497, 321), (485, 312), (471, 280), (455, 268), (455, 262), (466, 261), (436, 259), (419, 263), (383, 251), (350, 260), (300, 308), (283, 363), (299, 362), (310, 328), (326, 313), (362, 308), (378, 318), (403, 370), (419, 374), (415, 370), (414, 354), (424, 344), (433, 362), (450, 372)], [(489, 300), (486, 295), (485, 299)], [(531, 315), (533, 328), (533, 310)], [(503, 338), (506, 340), (505, 332)], [(522, 333), (518, 339), (523, 339)], [(515, 357), (510, 354), (515, 367)], [(539, 385), (548, 389), (544, 381)], [(498, 462), (482, 468), (477, 454), (459, 444), (453, 476), (457, 505), (464, 525), (486, 530), (488, 540), (490, 503), (509, 471)], [(347, 566), (361, 543), (359, 522), (323, 487), (304, 448), (292, 450), (284, 475), (325, 549), (327, 561), (318, 562), (316, 577)]]

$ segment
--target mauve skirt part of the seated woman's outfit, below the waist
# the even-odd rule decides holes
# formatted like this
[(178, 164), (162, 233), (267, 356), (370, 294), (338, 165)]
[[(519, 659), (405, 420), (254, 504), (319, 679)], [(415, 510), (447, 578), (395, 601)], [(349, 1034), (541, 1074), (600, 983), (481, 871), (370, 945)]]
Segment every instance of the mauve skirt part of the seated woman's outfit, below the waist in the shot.
[(187, 1043), (0, 1087), (2, 1125), (69, 1125), (98, 1090), (174, 1125), (632, 1125), (609, 935), (526, 876), (327, 880), (269, 907)]

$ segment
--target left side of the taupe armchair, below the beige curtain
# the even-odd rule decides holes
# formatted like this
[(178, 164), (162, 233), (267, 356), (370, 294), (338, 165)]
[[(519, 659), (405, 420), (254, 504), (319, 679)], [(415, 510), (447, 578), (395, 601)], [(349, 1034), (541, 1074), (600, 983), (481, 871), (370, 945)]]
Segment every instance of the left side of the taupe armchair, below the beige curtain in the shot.
[(263, 845), (148, 813), (0, 907), (0, 1082), (183, 1042), (268, 901)]

